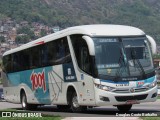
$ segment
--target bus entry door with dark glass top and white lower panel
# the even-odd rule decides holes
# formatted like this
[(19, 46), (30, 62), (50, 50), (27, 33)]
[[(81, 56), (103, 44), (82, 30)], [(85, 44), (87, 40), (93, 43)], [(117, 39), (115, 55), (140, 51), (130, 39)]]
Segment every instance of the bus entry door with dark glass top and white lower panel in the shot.
[[(71, 36), (71, 41), (77, 61), (76, 75), (79, 82), (79, 102), (81, 105), (93, 105), (94, 83), (91, 69), (91, 56), (89, 55), (88, 45), (81, 35)], [(76, 63), (75, 63), (76, 64)]]

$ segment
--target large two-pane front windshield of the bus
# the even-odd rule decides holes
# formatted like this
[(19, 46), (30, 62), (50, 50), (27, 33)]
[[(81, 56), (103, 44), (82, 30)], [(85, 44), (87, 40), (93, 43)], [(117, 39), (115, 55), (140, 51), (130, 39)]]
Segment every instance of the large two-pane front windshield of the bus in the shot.
[(98, 76), (145, 76), (153, 71), (152, 57), (145, 37), (93, 38)]

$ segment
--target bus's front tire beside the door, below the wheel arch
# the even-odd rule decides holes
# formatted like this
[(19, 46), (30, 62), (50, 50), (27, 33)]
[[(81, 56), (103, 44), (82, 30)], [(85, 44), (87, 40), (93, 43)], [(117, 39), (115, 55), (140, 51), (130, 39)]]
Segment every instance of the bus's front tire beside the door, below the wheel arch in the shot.
[(76, 92), (73, 92), (72, 94), (70, 105), (71, 105), (72, 112), (83, 112), (87, 110), (86, 106), (80, 106), (78, 104), (78, 97)]

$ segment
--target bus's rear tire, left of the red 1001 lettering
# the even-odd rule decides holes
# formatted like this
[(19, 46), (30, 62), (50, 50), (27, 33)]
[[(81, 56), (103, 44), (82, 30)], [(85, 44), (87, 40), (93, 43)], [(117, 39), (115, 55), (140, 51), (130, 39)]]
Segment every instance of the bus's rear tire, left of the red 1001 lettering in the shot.
[(27, 96), (24, 92), (21, 95), (21, 105), (22, 105), (23, 110), (33, 110), (33, 109), (37, 108), (36, 104), (28, 104), (27, 103)]

